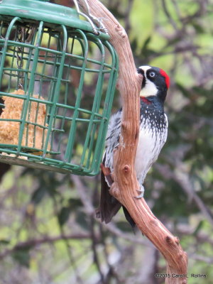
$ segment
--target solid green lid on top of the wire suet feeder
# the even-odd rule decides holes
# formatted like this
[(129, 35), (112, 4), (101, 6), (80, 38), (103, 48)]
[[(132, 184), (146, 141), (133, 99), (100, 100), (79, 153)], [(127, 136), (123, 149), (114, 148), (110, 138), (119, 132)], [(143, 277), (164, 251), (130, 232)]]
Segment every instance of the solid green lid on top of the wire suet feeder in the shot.
[[(80, 20), (75, 9), (48, 3), (47, 0), (1, 0), (0, 19), (3, 15), (80, 28), (93, 33), (90, 23)], [(103, 40), (109, 40), (106, 33), (100, 32), (98, 36)]]

